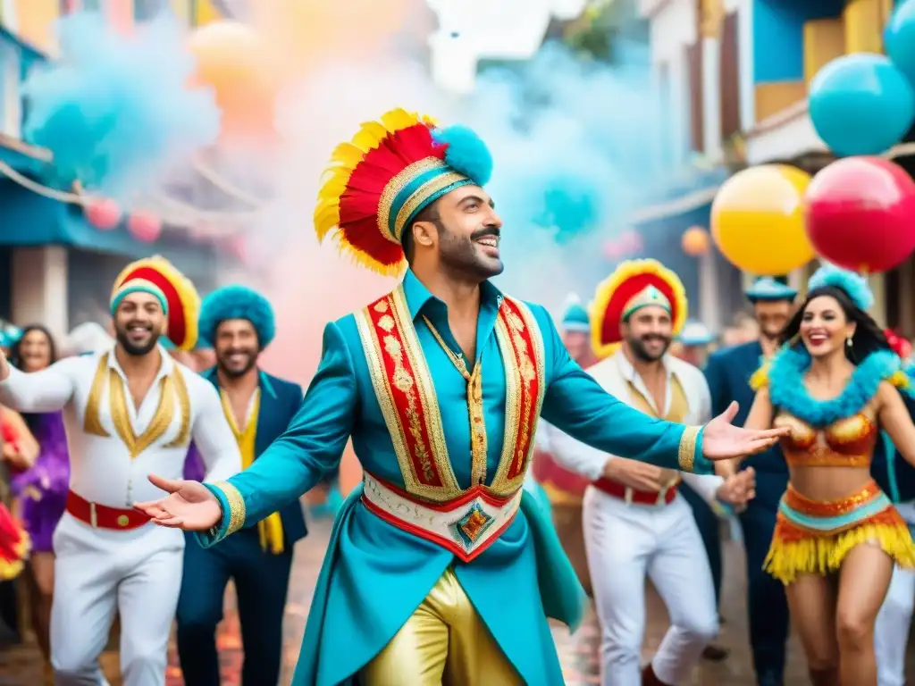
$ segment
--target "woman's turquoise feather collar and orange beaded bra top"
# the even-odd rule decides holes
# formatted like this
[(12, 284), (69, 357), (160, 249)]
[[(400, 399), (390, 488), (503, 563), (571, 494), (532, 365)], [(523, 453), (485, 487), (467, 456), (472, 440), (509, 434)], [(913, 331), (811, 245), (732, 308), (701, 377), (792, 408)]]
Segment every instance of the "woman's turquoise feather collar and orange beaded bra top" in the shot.
[(867, 468), (880, 435), (872, 407), (880, 383), (910, 392), (901, 360), (888, 350), (871, 353), (857, 365), (845, 389), (826, 401), (813, 398), (804, 386), (810, 361), (802, 348), (782, 348), (750, 380), (755, 390), (769, 388), (773, 425), (791, 430), (780, 439), (786, 462)]

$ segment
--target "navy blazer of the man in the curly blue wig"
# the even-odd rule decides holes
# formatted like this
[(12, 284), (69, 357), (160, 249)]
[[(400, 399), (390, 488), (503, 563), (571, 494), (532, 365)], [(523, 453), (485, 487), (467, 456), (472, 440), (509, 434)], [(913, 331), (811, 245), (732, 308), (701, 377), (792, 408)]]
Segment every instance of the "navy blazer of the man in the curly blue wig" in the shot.
[[(202, 372), (202, 376), (220, 388), (216, 368)], [(302, 404), (302, 387), (292, 381), (285, 381), (265, 371), (260, 372), (261, 408), (257, 413), (257, 435), (254, 438), (254, 459), (260, 457), (277, 438), (285, 433), (286, 427)], [(302, 505), (295, 500), (280, 509), (280, 520), (283, 521), (283, 537), (286, 550), (307, 535), (305, 515)], [(256, 522), (250, 526), (255, 526)]]

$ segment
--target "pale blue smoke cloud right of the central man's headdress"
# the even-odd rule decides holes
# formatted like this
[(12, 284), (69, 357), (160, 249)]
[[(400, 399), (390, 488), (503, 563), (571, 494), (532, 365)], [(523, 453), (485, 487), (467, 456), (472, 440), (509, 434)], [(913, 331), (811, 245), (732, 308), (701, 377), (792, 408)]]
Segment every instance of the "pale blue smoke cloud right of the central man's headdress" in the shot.
[(530, 62), (484, 72), (457, 113), (495, 160), (487, 188), (505, 221), (499, 278), (511, 293), (553, 306), (570, 290), (592, 293), (612, 268), (605, 241), (670, 181), (648, 47), (617, 53), (597, 64), (548, 44)]

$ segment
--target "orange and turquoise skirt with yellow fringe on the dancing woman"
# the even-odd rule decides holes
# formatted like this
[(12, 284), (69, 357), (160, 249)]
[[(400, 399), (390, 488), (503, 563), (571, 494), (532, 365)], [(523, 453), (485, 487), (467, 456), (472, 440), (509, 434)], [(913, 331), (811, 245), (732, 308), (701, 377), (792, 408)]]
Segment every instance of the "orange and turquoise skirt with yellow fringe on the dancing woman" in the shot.
[(799, 574), (825, 576), (837, 572), (848, 552), (867, 541), (899, 565), (915, 567), (909, 526), (873, 481), (854, 495), (826, 502), (805, 498), (789, 484), (764, 567), (785, 585)]

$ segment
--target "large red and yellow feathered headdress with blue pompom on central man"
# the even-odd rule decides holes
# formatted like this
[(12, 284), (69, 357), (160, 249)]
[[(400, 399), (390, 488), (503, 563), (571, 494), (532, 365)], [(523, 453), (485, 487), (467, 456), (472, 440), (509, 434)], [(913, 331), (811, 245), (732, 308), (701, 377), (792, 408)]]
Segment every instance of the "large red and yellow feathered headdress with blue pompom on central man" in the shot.
[(423, 209), (446, 193), (484, 186), (492, 156), (465, 126), (436, 128), (429, 117), (397, 109), (334, 150), (318, 192), (315, 230), (331, 230), (341, 250), (384, 274), (404, 268), (401, 240)]

